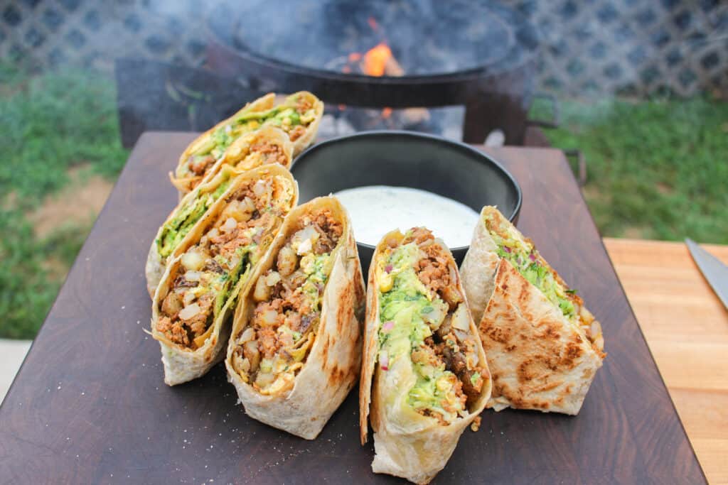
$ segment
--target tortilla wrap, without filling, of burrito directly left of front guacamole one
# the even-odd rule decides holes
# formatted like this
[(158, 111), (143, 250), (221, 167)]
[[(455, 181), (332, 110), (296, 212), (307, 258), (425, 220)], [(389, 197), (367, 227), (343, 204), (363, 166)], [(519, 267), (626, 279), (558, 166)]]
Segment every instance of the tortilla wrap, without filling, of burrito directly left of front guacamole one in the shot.
[(273, 267), (278, 252), (288, 236), (296, 232), (296, 223), (301, 217), (325, 208), (331, 209), (334, 217), (343, 221), (344, 227), (331, 255), (333, 268), (323, 292), (318, 333), (293, 388), (280, 394), (263, 395), (242, 380), (232, 366), (237, 339), (248, 326), (256, 306), (252, 297), (253, 284), (242, 295), (235, 313), (225, 360), (228, 380), (235, 386), (250, 417), (306, 439), (318, 436), (331, 414), (347, 397), (361, 364), (364, 279), (351, 221), (339, 200), (333, 196), (319, 197), (293, 209), (250, 278), (250, 281), (256, 281)]

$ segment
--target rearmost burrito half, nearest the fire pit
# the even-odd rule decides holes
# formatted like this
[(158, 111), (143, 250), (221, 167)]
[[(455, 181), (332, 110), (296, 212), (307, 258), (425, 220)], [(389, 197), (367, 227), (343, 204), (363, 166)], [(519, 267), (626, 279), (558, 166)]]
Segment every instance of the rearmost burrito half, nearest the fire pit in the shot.
[(183, 151), (178, 167), (202, 173), (221, 159), (241, 135), (263, 126), (282, 129), (293, 143), (293, 156), (296, 156), (313, 143), (321, 116), (323, 103), (310, 92), (296, 92), (278, 104), (275, 95), (269, 93), (199, 135)]

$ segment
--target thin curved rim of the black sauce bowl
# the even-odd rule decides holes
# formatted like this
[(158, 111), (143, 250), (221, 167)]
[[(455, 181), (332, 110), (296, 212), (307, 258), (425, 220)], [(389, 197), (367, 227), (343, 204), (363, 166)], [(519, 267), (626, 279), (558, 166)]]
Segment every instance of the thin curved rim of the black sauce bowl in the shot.
[[(454, 148), (459, 151), (464, 151), (465, 153), (470, 154), (471, 156), (475, 156), (475, 158), (480, 159), (481, 161), (485, 160), (487, 163), (494, 165), (496, 169), (498, 169), (502, 175), (505, 175), (506, 179), (510, 181), (513, 188), (515, 188), (515, 207), (513, 208), (513, 214), (508, 216), (508, 220), (513, 223), (513, 220), (518, 217), (519, 212), (521, 212), (521, 204), (523, 203), (523, 192), (521, 191), (521, 185), (518, 185), (518, 180), (515, 180), (515, 177), (513, 177), (513, 174), (511, 174), (503, 165), (494, 159), (492, 156), (488, 155), (487, 153), (483, 153), (482, 151), (478, 150), (477, 148), (472, 147), (472, 145), (468, 145), (467, 143), (462, 143), (456, 140), (449, 140), (448, 138), (441, 137), (439, 135), (432, 135), (430, 133), (422, 133), (422, 132), (410, 132), (403, 129), (372, 129), (368, 131), (363, 132), (356, 132), (352, 133), (351, 135), (342, 135), (339, 137), (333, 137), (328, 138), (327, 140), (323, 140), (319, 143), (315, 143), (314, 145), (311, 145), (309, 148), (306, 148), (306, 150), (302, 151), (301, 153), (296, 156), (296, 159), (293, 160), (293, 162), (290, 165), (290, 172), (291, 175), (293, 175), (293, 169), (298, 164), (298, 161), (301, 159), (304, 159), (306, 156), (309, 156), (311, 153), (320, 150), (321, 148), (326, 148), (329, 145), (336, 145), (337, 143), (349, 141), (352, 139), (357, 138), (370, 138), (370, 137), (409, 137), (409, 138), (416, 138), (419, 140), (426, 140), (430, 143), (439, 143), (440, 145), (447, 145), (448, 148)], [(295, 178), (295, 177), (294, 177)], [(333, 195), (333, 194), (331, 194)], [(478, 213), (480, 215), (480, 213)], [(363, 246), (368, 249), (376, 249), (376, 246), (373, 246), (372, 244), (366, 244), (360, 241), (356, 241), (357, 245)], [(467, 246), (456, 246), (448, 248), (451, 252), (454, 251), (462, 251), (464, 249), (468, 249), (470, 247), (470, 244), (467, 244)]]

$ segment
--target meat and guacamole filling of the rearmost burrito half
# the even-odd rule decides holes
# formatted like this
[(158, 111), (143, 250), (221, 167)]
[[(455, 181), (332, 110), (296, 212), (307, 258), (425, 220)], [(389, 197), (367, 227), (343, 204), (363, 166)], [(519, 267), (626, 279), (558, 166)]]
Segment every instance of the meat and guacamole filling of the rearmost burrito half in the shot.
[(261, 126), (279, 127), (288, 133), (291, 141), (298, 140), (316, 119), (316, 110), (309, 97), (306, 93), (297, 93), (269, 110), (249, 111), (232, 117), (194, 149), (188, 159), (189, 167), (213, 164), (234, 140)]

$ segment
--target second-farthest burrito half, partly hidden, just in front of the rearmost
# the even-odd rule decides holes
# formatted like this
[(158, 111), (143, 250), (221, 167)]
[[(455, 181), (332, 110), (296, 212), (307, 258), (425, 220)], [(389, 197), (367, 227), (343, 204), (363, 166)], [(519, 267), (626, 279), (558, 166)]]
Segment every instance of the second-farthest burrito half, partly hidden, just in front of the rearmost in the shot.
[[(181, 161), (170, 180), (181, 195), (188, 193), (200, 182), (210, 180), (229, 165), (242, 172), (266, 164), (281, 164), (290, 169), (293, 160), (293, 143), (282, 129), (266, 125), (234, 140), (217, 161), (213, 156), (190, 156)], [(212, 163), (209, 163), (212, 162)]]

